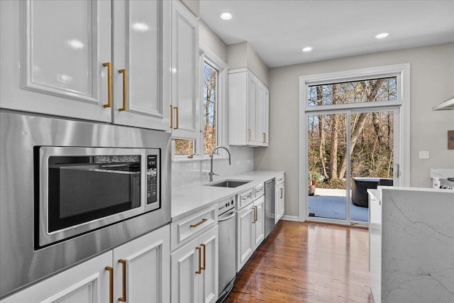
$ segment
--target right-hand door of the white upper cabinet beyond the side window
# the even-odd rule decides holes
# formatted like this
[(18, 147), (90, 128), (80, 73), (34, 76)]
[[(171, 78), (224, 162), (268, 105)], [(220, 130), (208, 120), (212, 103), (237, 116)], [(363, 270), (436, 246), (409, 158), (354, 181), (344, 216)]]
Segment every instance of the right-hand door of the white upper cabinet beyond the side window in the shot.
[(258, 145), (270, 145), (268, 134), (268, 120), (269, 120), (269, 100), (270, 93), (267, 87), (262, 82), (258, 86), (258, 100), (257, 100), (257, 119), (258, 119)]

